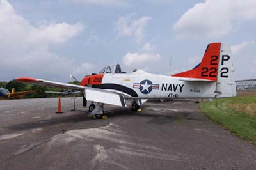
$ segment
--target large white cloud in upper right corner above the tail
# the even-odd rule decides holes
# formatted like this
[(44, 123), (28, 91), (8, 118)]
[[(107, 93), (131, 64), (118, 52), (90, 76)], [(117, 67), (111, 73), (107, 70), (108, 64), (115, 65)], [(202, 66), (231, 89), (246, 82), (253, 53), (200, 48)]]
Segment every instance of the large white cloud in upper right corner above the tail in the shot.
[(190, 8), (173, 25), (176, 38), (221, 38), (243, 21), (256, 19), (255, 0), (206, 0)]

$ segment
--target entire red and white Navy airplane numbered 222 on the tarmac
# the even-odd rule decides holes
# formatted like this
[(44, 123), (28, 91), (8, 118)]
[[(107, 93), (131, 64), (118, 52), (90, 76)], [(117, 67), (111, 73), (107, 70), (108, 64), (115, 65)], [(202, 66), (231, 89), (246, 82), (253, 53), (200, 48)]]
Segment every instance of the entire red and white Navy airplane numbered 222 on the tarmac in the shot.
[(99, 73), (86, 75), (80, 85), (19, 77), (19, 82), (54, 86), (82, 91), (84, 103), (93, 101), (89, 111), (96, 118), (106, 116), (104, 104), (127, 107), (139, 111), (148, 99), (223, 98), (236, 96), (234, 66), (230, 43), (209, 43), (202, 61), (195, 68), (174, 75), (156, 75), (134, 70), (124, 72), (119, 64), (109, 65)]

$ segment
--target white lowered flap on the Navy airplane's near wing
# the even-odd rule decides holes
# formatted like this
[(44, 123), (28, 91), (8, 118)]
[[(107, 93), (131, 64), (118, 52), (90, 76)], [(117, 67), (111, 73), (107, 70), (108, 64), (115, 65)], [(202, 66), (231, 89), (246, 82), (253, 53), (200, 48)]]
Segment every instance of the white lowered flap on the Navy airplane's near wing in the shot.
[(100, 102), (104, 104), (111, 104), (126, 107), (124, 95), (112, 93), (110, 91), (98, 91), (95, 89), (86, 89), (86, 100)]

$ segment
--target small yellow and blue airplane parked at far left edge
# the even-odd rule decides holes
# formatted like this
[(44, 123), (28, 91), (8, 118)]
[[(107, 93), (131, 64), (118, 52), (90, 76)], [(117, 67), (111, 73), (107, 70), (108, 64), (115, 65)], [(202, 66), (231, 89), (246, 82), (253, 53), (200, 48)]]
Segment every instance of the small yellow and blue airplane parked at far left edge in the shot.
[(20, 97), (20, 99), (21, 99), (23, 95), (28, 95), (30, 93), (35, 93), (35, 92), (36, 92), (35, 90), (15, 92), (15, 89), (12, 88), (12, 93), (10, 93), (10, 91), (8, 91), (8, 89), (0, 88), (0, 97), (8, 98), (8, 99)]

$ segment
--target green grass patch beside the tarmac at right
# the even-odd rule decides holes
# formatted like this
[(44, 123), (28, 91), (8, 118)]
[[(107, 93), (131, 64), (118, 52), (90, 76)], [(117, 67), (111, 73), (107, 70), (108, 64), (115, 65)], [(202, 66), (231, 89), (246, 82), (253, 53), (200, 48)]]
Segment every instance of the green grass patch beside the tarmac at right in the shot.
[(242, 139), (256, 144), (256, 95), (220, 98), (204, 102), (200, 110)]

